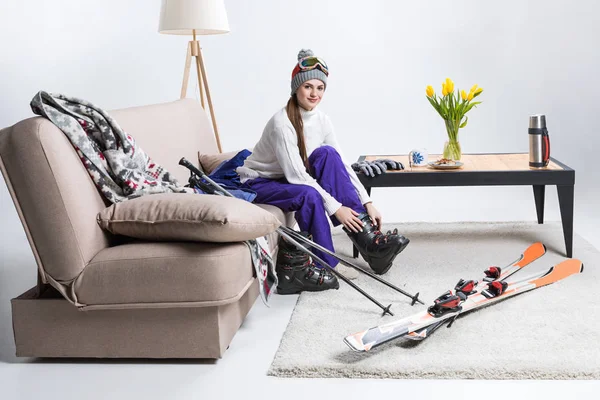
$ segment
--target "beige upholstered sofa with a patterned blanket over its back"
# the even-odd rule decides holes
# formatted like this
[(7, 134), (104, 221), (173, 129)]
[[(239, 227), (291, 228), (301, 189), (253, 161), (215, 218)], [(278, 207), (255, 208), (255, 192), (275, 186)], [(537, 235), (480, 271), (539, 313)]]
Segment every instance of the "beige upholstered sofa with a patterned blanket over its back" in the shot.
[[(182, 183), (189, 172), (181, 157), (218, 153), (195, 100), (110, 114)], [(0, 166), (39, 272), (37, 285), (12, 300), (17, 356), (223, 355), (258, 294), (244, 243), (146, 242), (103, 231), (96, 216), (109, 204), (66, 136), (41, 117), (0, 131)]]

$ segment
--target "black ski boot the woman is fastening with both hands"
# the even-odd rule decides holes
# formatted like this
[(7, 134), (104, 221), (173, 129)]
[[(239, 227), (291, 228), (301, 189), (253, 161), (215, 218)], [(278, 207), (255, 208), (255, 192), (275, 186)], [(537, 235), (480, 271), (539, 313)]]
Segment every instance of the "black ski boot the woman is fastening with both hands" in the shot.
[(344, 228), (350, 240), (358, 248), (361, 256), (378, 275), (385, 274), (394, 261), (394, 258), (408, 245), (408, 240), (403, 235), (398, 235), (398, 230), (388, 231), (386, 234), (375, 228), (368, 214), (358, 216), (363, 222), (363, 230), (355, 233)]

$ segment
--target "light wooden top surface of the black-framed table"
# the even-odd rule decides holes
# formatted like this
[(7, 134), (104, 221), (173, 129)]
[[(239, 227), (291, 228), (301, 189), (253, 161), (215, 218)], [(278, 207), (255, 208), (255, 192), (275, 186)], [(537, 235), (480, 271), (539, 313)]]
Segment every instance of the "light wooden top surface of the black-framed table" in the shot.
[[(362, 159), (363, 157), (361, 157)], [(464, 164), (459, 169), (448, 169), (440, 170), (434, 169), (429, 166), (423, 167), (409, 167), (408, 155), (369, 155), (364, 156), (367, 161), (374, 161), (377, 159), (391, 159), (394, 161), (400, 161), (404, 164), (405, 169), (401, 171), (388, 171), (395, 173), (412, 173), (412, 172), (483, 172), (483, 171), (563, 171), (565, 170), (562, 166), (550, 159), (548, 166), (545, 168), (530, 168), (529, 167), (529, 154), (527, 153), (513, 153), (513, 154), (463, 154), (461, 162)], [(435, 161), (442, 158), (439, 154), (430, 154), (429, 161)]]

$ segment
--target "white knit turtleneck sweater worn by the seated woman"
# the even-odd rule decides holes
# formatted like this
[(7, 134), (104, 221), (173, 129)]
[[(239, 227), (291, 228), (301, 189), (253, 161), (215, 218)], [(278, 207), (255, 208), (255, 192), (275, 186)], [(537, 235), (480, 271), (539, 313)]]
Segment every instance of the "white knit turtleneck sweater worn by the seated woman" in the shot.
[[(370, 202), (367, 191), (342, 155), (329, 117), (317, 109), (306, 111), (300, 108), (300, 112), (304, 124), (307, 155), (310, 157), (312, 152), (320, 146), (327, 145), (335, 148), (342, 157), (361, 203)], [(240, 174), (242, 183), (259, 177), (268, 179), (285, 177), (289, 183), (312, 186), (321, 194), (327, 215), (333, 215), (342, 206), (306, 172), (298, 151), (296, 130), (287, 116), (285, 107), (269, 120), (262, 137), (254, 146), (252, 154), (246, 159), (244, 165), (237, 169), (237, 172)]]

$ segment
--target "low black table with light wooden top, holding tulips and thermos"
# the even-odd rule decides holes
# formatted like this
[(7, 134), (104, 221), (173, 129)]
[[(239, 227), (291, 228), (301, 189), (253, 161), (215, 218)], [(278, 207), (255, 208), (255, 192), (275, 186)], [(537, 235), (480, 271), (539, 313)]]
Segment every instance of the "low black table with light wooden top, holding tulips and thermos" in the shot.
[[(560, 161), (551, 158), (546, 168), (530, 169), (529, 155), (526, 153), (463, 154), (461, 162), (464, 166), (461, 169), (437, 170), (430, 167), (411, 169), (406, 155), (368, 155), (360, 156), (358, 160), (373, 161), (379, 158), (400, 161), (406, 169), (388, 171), (374, 178), (359, 173), (358, 178), (369, 195), (371, 189), (376, 187), (531, 185), (539, 224), (544, 223), (546, 185), (556, 185), (566, 255), (573, 257), (575, 171)], [(430, 155), (430, 160), (438, 158), (439, 155)], [(354, 248), (354, 257), (358, 257), (356, 248)]]

